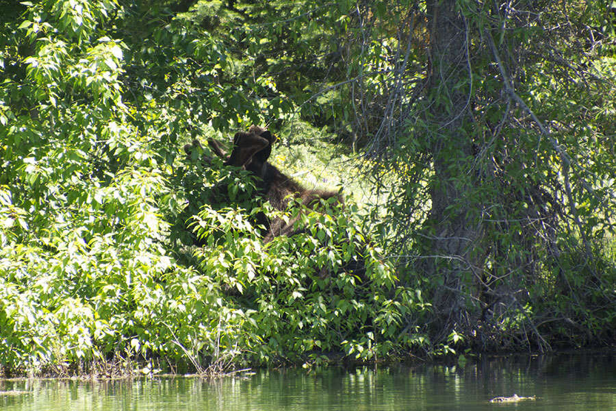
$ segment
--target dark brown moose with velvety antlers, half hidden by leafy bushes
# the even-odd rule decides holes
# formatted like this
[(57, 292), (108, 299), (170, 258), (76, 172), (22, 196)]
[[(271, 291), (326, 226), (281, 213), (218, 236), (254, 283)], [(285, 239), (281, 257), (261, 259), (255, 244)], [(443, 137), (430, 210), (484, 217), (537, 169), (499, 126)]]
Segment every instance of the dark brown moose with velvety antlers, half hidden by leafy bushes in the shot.
[[(233, 149), (229, 155), (212, 138), (208, 139), (208, 145), (211, 151), (223, 160), (224, 165), (244, 169), (258, 177), (259, 195), (269, 201), (275, 210), (285, 210), (292, 199), (312, 209), (316, 209), (322, 199), (333, 199), (332, 203), (343, 203), (338, 191), (307, 189), (270, 164), (268, 159), (276, 140), (276, 136), (269, 130), (253, 125), (247, 132), (238, 132), (233, 136)], [(184, 146), (184, 151), (190, 158), (192, 151), (197, 147), (201, 147), (201, 144), (198, 140), (193, 140), (192, 144)], [(207, 156), (202, 160), (206, 164), (211, 164), (211, 159)], [(303, 232), (303, 228), (295, 227), (298, 219), (299, 217), (296, 217), (285, 222), (277, 218), (269, 221), (266, 216), (259, 216), (258, 221), (266, 230), (264, 242), (270, 242), (277, 236), (291, 236)]]

